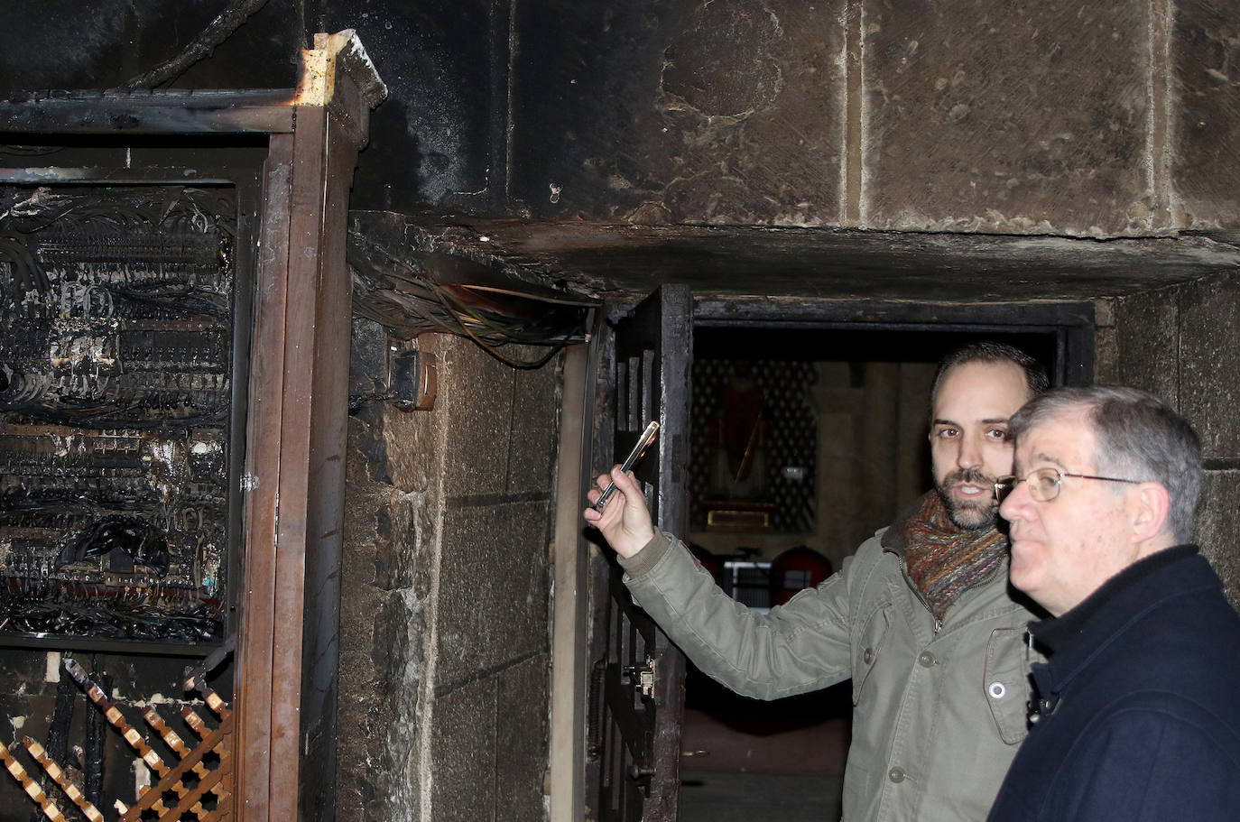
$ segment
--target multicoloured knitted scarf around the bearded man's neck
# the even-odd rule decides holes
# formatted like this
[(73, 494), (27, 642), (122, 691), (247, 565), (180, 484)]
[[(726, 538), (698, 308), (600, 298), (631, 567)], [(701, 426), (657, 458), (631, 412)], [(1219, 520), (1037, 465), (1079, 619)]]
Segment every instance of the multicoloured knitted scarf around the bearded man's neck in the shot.
[(990, 577), (1007, 550), (1007, 537), (994, 528), (957, 528), (934, 491), (904, 523), (904, 564), (936, 620), (961, 593)]

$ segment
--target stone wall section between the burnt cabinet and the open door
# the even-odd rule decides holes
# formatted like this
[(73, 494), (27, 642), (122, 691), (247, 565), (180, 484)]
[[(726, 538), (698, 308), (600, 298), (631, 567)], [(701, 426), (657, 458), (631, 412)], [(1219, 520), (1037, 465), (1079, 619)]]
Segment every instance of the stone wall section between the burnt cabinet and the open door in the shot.
[(541, 821), (558, 361), (419, 347), (434, 409), (350, 419), (337, 818)]

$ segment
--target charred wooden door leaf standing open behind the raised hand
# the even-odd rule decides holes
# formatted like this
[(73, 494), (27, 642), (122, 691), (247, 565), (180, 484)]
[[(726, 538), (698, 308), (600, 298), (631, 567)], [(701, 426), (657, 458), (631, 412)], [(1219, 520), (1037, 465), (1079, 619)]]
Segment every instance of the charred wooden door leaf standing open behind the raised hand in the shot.
[[(604, 345), (600, 419), (593, 462), (624, 461), (651, 420), (657, 446), (637, 477), (657, 527), (687, 533), (688, 376), (692, 300), (684, 286), (663, 286), (621, 319)], [(611, 449), (613, 454), (608, 453)], [(610, 550), (591, 583), (595, 635), (588, 741), (587, 818), (672, 822), (680, 791), (684, 657), (637, 608)]]

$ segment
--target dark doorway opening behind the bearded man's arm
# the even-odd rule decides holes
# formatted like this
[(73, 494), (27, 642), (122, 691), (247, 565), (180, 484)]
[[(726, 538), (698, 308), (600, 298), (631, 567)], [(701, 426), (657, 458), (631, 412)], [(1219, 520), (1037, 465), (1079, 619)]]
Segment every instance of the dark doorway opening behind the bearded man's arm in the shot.
[[(689, 541), (750, 608), (817, 581), (808, 570), (780, 573), (790, 552), (838, 570), (930, 488), (929, 393), (946, 353), (994, 340), (1035, 357), (1054, 384), (1092, 373), (1089, 305), (889, 305), (878, 321), (839, 310), (697, 306)], [(847, 682), (760, 702), (686, 667), (682, 822), (838, 818)]]

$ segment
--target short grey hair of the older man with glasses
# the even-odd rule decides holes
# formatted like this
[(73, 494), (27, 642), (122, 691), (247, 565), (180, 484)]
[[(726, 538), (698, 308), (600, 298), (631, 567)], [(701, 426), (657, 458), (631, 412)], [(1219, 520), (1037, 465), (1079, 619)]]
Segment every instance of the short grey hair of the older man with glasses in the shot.
[(1188, 422), (1158, 397), (1123, 386), (1055, 388), (1030, 399), (1008, 424), (1018, 443), (1032, 428), (1083, 412), (1094, 430), (1094, 470), (1158, 482), (1171, 496), (1167, 531), (1187, 542), (1202, 492), (1202, 444)]

